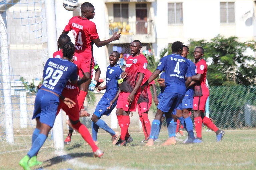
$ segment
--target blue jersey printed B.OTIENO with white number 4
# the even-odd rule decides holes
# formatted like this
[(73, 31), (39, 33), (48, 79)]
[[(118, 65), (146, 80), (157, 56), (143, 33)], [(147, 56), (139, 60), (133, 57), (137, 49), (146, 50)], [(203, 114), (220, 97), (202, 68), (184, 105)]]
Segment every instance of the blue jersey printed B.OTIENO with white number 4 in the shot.
[(164, 93), (185, 95), (185, 76), (192, 76), (187, 59), (177, 54), (167, 55), (160, 60), (157, 69), (161, 72), (165, 71)]

